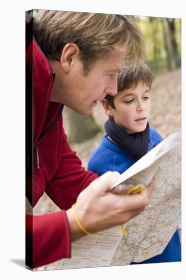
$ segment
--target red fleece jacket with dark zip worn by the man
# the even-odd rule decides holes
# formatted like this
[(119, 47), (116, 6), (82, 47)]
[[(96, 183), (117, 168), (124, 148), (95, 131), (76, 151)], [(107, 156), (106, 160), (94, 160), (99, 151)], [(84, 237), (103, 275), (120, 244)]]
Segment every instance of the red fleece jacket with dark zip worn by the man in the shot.
[(26, 264), (38, 267), (71, 257), (70, 228), (65, 210), (98, 176), (81, 167), (80, 159), (67, 142), (61, 104), (50, 102), (53, 71), (35, 40), (26, 50), (26, 67), (30, 79), (33, 73), (34, 93), (34, 168), (33, 177), (26, 178), (26, 196), (34, 207), (46, 192), (60, 209), (64, 209), (40, 216), (26, 215)]

